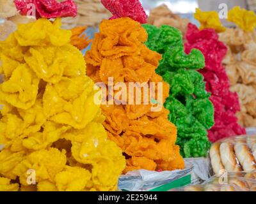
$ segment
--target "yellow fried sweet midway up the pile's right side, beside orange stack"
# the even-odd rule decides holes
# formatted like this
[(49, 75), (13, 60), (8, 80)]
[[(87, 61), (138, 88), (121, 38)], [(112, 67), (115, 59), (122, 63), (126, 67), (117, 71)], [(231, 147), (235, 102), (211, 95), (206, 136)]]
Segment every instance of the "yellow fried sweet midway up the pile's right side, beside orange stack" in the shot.
[(85, 128), (99, 110), (94, 103), (95, 93), (92, 80), (86, 76), (63, 78), (59, 84), (45, 87), (44, 113), (54, 122)]

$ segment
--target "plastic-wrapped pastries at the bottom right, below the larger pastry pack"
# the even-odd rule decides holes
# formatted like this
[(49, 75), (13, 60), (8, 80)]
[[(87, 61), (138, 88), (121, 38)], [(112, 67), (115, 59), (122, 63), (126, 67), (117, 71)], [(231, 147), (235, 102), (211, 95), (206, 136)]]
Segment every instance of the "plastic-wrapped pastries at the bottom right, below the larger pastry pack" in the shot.
[(201, 185), (186, 186), (171, 191), (256, 191), (256, 172), (229, 173), (214, 176)]

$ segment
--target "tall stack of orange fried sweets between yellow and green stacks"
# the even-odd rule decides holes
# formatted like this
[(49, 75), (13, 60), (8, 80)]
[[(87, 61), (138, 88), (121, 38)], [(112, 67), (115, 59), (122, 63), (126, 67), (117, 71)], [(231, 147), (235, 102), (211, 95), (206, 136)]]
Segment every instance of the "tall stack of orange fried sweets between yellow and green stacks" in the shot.
[[(163, 82), (155, 73), (161, 55), (143, 44), (147, 32), (138, 22), (127, 17), (116, 18), (103, 20), (99, 28), (85, 57), (88, 75), (95, 82), (108, 84), (108, 77), (113, 77), (114, 83)], [(169, 86), (163, 82), (163, 102), (168, 90)], [(177, 129), (168, 122), (168, 111), (163, 108), (160, 112), (150, 112), (151, 107), (150, 104), (102, 105), (109, 138), (127, 156), (124, 172), (184, 168), (179, 146), (175, 145)]]

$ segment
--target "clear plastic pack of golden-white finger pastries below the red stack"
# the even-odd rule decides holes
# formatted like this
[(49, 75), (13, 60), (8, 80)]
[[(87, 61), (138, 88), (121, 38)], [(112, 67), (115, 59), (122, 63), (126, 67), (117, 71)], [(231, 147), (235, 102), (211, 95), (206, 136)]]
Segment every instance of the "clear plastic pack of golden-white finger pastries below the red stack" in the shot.
[(256, 170), (256, 135), (242, 135), (213, 143), (209, 151), (216, 175), (227, 172)]

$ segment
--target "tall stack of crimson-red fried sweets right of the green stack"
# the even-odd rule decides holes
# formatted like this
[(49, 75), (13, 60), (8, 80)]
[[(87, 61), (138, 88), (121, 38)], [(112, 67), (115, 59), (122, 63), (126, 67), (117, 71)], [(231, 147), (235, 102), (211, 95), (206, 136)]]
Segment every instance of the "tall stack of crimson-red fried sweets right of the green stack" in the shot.
[[(210, 99), (215, 112), (215, 125), (208, 131), (209, 140), (215, 142), (220, 138), (245, 134), (245, 129), (237, 124), (236, 112), (240, 110), (237, 94), (229, 91), (230, 82), (221, 66), (227, 47), (221, 43), (213, 29), (199, 31), (195, 25), (189, 24), (186, 36), (186, 52), (198, 48), (205, 57), (205, 68), (200, 72), (204, 75), (207, 91), (212, 94)], [(193, 142), (192, 146), (199, 147), (199, 144)]]

